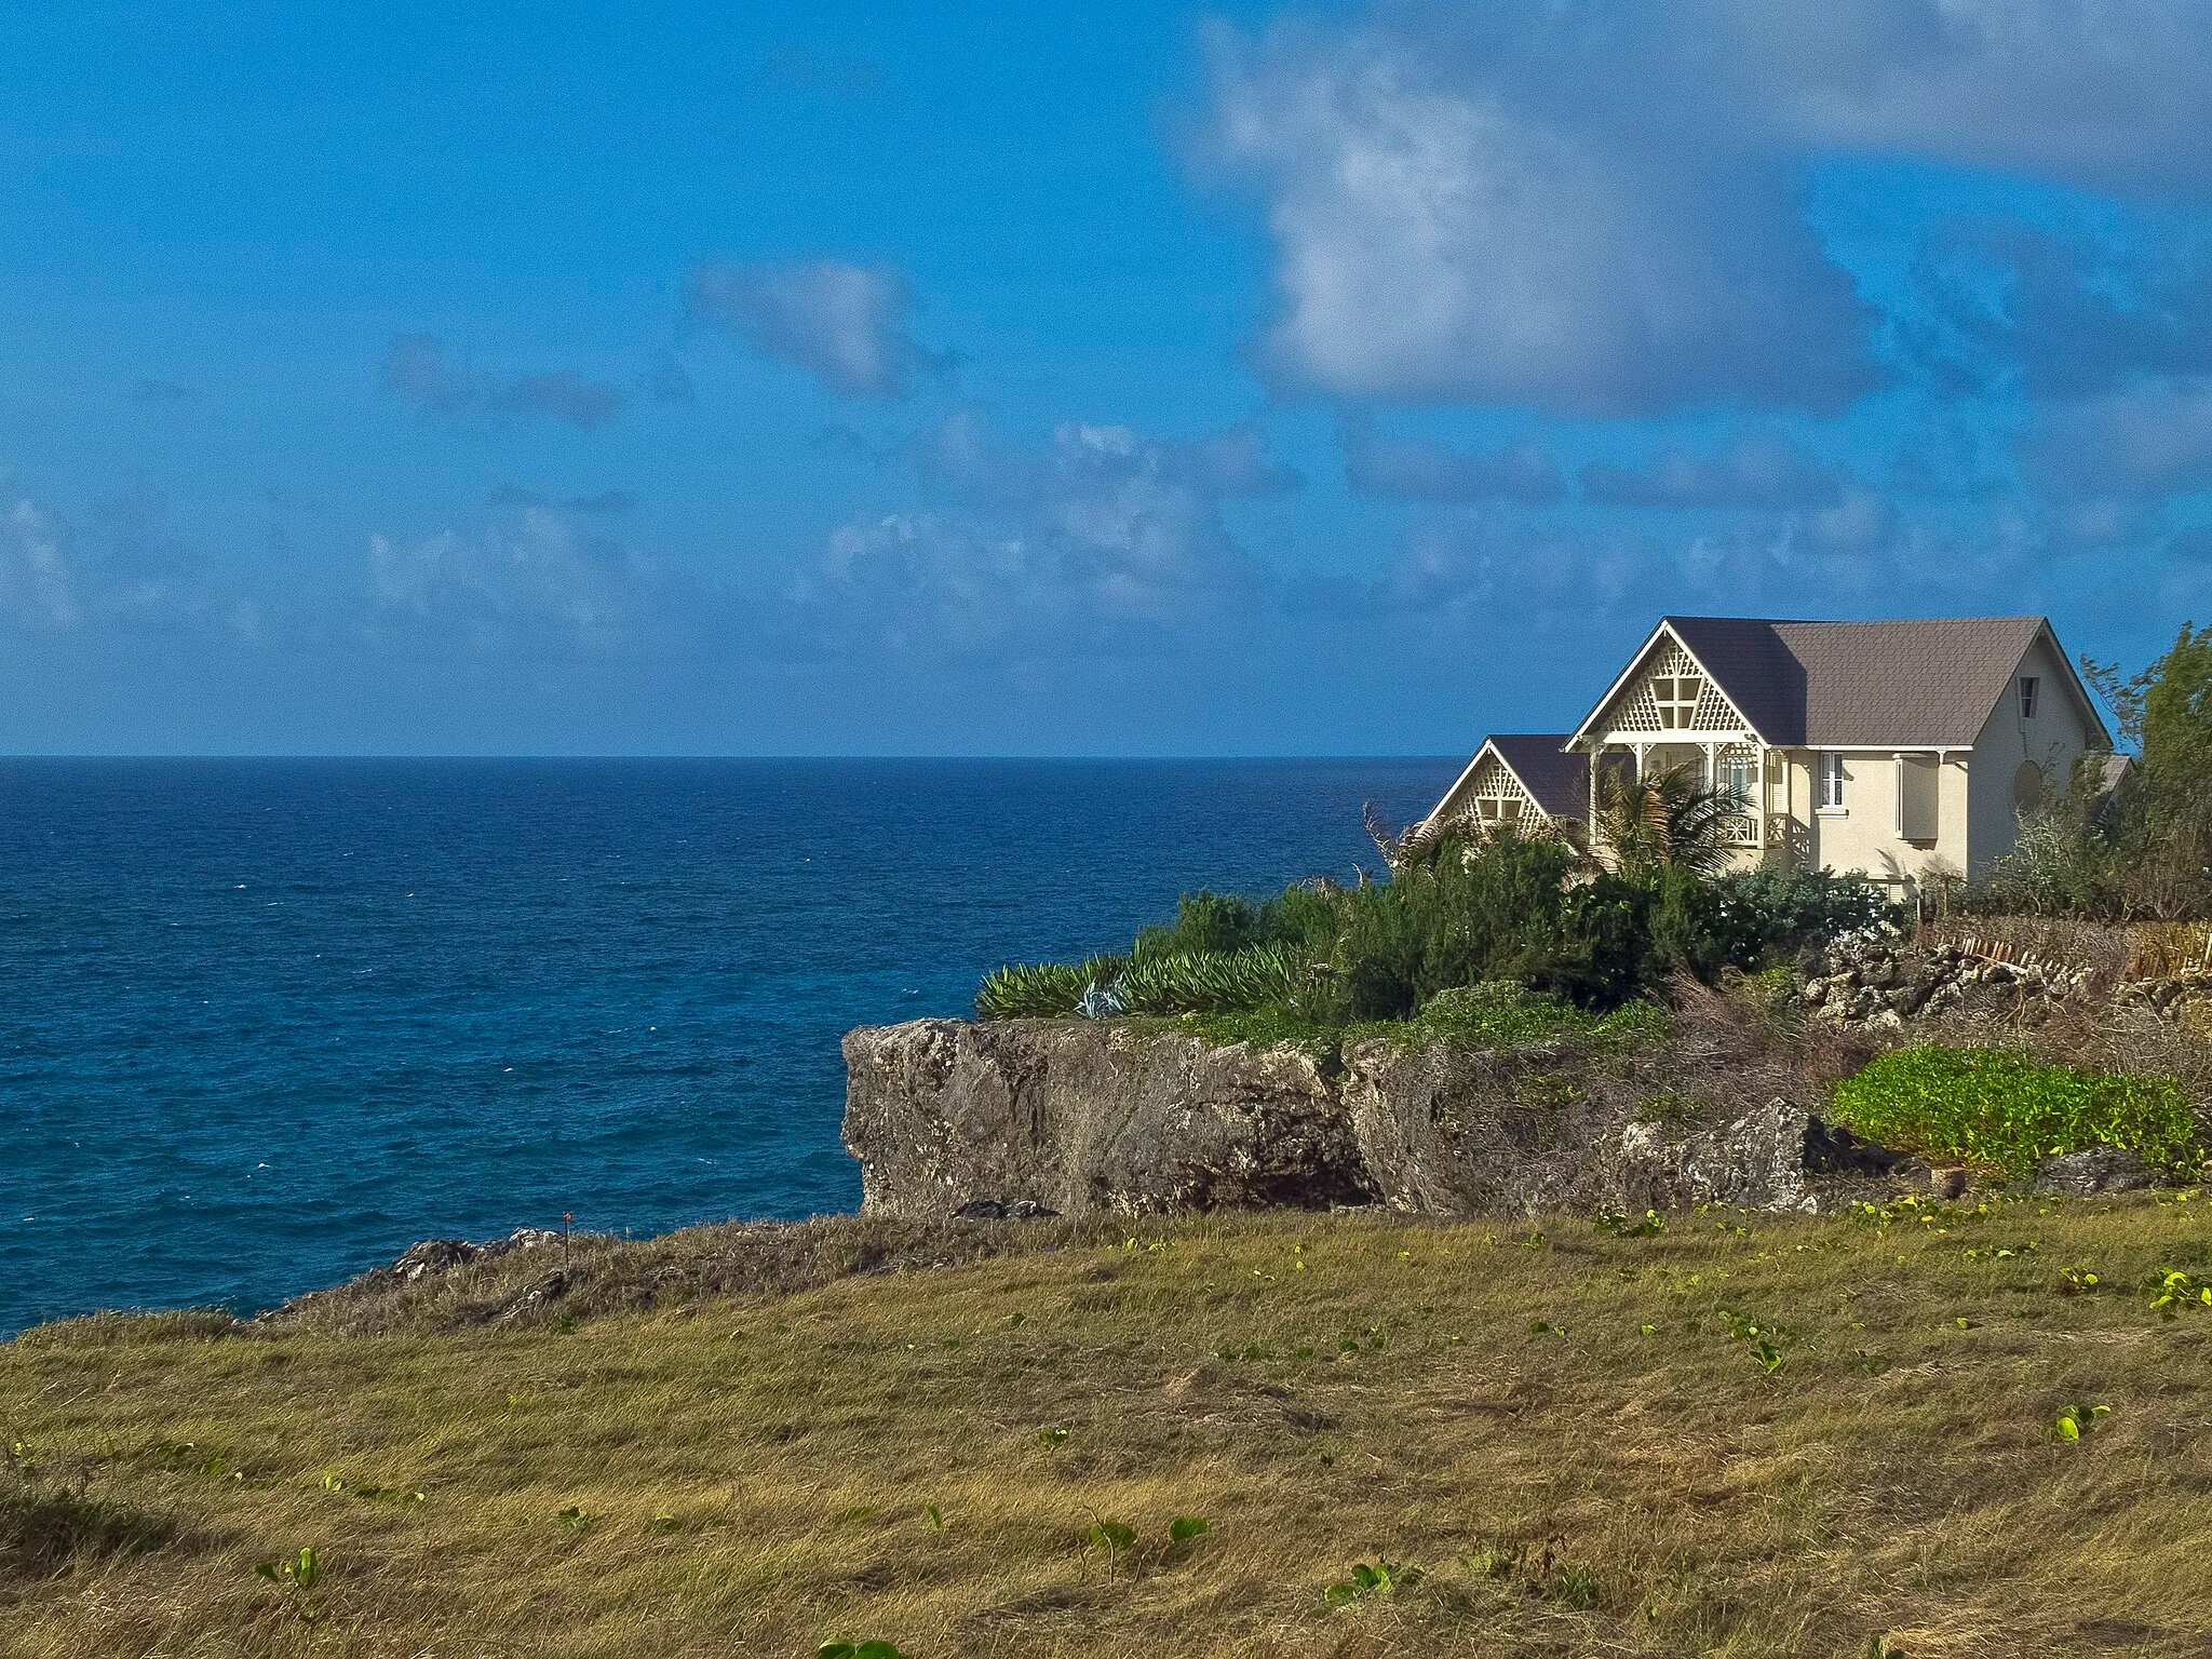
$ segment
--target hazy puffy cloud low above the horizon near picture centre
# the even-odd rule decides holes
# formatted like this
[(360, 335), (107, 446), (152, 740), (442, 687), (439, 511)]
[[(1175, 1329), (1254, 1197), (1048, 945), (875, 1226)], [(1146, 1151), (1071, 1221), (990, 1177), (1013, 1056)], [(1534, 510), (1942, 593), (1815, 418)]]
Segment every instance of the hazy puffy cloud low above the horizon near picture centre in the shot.
[(856, 520), (790, 588), (807, 650), (1150, 655), (1250, 602), (1259, 571), (1221, 504), (1294, 476), (1256, 434), (1192, 445), (1068, 422), (1037, 449), (971, 414), (916, 451), (927, 507)]

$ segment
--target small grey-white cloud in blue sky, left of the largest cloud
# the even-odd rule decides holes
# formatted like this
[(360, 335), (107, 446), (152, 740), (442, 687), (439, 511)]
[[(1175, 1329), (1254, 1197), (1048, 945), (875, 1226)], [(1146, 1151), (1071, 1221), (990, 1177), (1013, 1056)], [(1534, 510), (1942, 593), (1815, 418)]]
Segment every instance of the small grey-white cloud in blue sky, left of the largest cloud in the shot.
[(847, 398), (902, 398), (916, 374), (951, 367), (905, 332), (914, 290), (896, 270), (816, 259), (803, 265), (732, 265), (692, 272), (692, 316), (728, 323), (761, 356), (810, 369)]

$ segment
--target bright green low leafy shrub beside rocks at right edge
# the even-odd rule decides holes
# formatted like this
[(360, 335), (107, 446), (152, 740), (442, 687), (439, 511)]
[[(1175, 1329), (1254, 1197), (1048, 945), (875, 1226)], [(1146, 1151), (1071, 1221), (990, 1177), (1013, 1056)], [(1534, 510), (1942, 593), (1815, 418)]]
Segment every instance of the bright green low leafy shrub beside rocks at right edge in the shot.
[(2177, 1172), (2203, 1164), (2172, 1082), (2039, 1066), (2011, 1048), (1887, 1053), (1836, 1084), (1836, 1121), (1882, 1146), (2004, 1170), (2086, 1146), (2121, 1146)]

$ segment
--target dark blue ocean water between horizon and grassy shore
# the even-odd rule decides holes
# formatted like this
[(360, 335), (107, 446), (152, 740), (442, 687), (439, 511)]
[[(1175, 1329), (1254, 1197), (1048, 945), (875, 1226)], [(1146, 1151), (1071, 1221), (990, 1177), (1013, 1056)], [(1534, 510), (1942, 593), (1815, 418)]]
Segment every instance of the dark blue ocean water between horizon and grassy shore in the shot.
[(854, 1024), (1183, 889), (1347, 876), (1453, 761), (0, 763), (0, 1334), (416, 1239), (858, 1203)]

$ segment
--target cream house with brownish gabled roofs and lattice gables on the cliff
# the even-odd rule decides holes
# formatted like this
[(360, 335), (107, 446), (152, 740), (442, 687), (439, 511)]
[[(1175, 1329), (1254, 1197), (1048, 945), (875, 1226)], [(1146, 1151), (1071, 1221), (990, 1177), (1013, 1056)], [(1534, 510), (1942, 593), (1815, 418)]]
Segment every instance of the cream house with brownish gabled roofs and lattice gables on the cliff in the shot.
[(1573, 732), (1491, 737), (1431, 818), (1582, 838), (1610, 768), (1736, 796), (1743, 865), (1898, 889), (1989, 874), (2020, 812), (2112, 739), (2044, 617), (1661, 617)]

